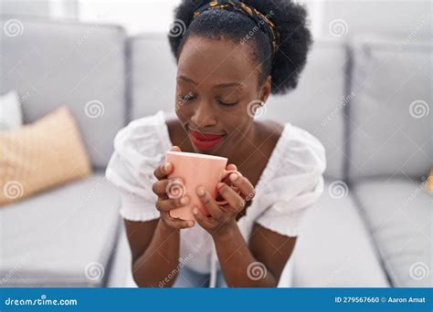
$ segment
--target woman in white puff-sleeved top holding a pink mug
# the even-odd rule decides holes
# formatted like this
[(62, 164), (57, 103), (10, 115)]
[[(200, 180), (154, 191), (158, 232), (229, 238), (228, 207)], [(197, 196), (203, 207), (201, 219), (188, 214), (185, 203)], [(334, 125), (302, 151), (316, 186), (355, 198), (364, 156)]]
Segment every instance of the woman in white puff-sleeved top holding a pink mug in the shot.
[[(133, 279), (138, 286), (278, 286), (301, 218), (322, 193), (324, 149), (305, 130), (253, 115), (270, 93), (296, 87), (312, 44), (306, 12), (287, 0), (184, 0), (175, 23), (186, 28), (169, 35), (177, 118), (159, 112), (132, 121), (117, 135), (107, 169), (121, 191)], [(211, 215), (195, 208), (195, 221), (171, 217), (189, 199), (167, 197), (169, 149), (227, 157), (227, 169), (241, 173), (217, 186), (227, 204), (199, 187)]]

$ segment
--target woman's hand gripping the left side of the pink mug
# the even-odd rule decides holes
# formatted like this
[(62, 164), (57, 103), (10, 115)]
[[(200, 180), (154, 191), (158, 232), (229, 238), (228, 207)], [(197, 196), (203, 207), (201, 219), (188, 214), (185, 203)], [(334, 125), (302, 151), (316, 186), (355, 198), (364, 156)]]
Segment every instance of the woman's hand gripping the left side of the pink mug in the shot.
[[(179, 147), (173, 146), (170, 151), (181, 151)], [(161, 213), (161, 219), (164, 224), (174, 230), (180, 230), (185, 228), (190, 228), (195, 225), (192, 220), (182, 220), (174, 218), (170, 215), (170, 211), (175, 208), (180, 208), (189, 203), (188, 196), (183, 196), (179, 198), (169, 198), (167, 191), (170, 188), (169, 185), (174, 183), (183, 183), (180, 178), (167, 179), (167, 175), (173, 172), (173, 164), (170, 162), (165, 162), (159, 165), (154, 170), (153, 174), (158, 179), (157, 182), (153, 183), (152, 191), (158, 196), (158, 200), (155, 203), (156, 209)]]

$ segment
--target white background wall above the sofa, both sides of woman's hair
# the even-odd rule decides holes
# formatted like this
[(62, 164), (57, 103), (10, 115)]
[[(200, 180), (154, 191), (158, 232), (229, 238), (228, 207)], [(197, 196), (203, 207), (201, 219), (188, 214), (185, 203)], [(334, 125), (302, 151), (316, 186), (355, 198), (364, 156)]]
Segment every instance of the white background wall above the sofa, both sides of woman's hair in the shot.
[[(266, 0), (264, 0), (266, 1)], [(313, 36), (432, 36), (432, 0), (295, 0), (307, 6)], [(0, 0), (2, 14), (118, 24), (133, 36), (167, 32), (180, 0)]]

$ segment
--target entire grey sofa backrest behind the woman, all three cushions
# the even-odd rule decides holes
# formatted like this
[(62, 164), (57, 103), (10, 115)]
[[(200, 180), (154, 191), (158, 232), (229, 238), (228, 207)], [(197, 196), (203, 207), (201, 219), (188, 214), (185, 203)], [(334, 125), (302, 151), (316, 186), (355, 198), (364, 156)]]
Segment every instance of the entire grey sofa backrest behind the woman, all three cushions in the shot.
[[(18, 91), (26, 122), (67, 105), (95, 167), (107, 164), (129, 120), (173, 112), (176, 65), (165, 34), (129, 38), (126, 55), (118, 26), (20, 18), (19, 34), (8, 36), (11, 20), (1, 21), (0, 92)], [(328, 177), (425, 175), (433, 159), (431, 48), (412, 37), (316, 39), (298, 88), (270, 97), (263, 118), (321, 140)]]

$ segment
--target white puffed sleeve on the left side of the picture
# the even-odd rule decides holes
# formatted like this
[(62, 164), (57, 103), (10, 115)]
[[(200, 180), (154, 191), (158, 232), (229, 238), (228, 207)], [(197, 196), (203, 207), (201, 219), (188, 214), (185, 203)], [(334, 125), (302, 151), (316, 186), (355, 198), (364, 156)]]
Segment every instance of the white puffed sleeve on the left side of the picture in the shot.
[(171, 141), (164, 113), (133, 120), (114, 139), (114, 152), (105, 176), (121, 194), (121, 216), (131, 221), (159, 218), (152, 192), (155, 167), (164, 162)]

